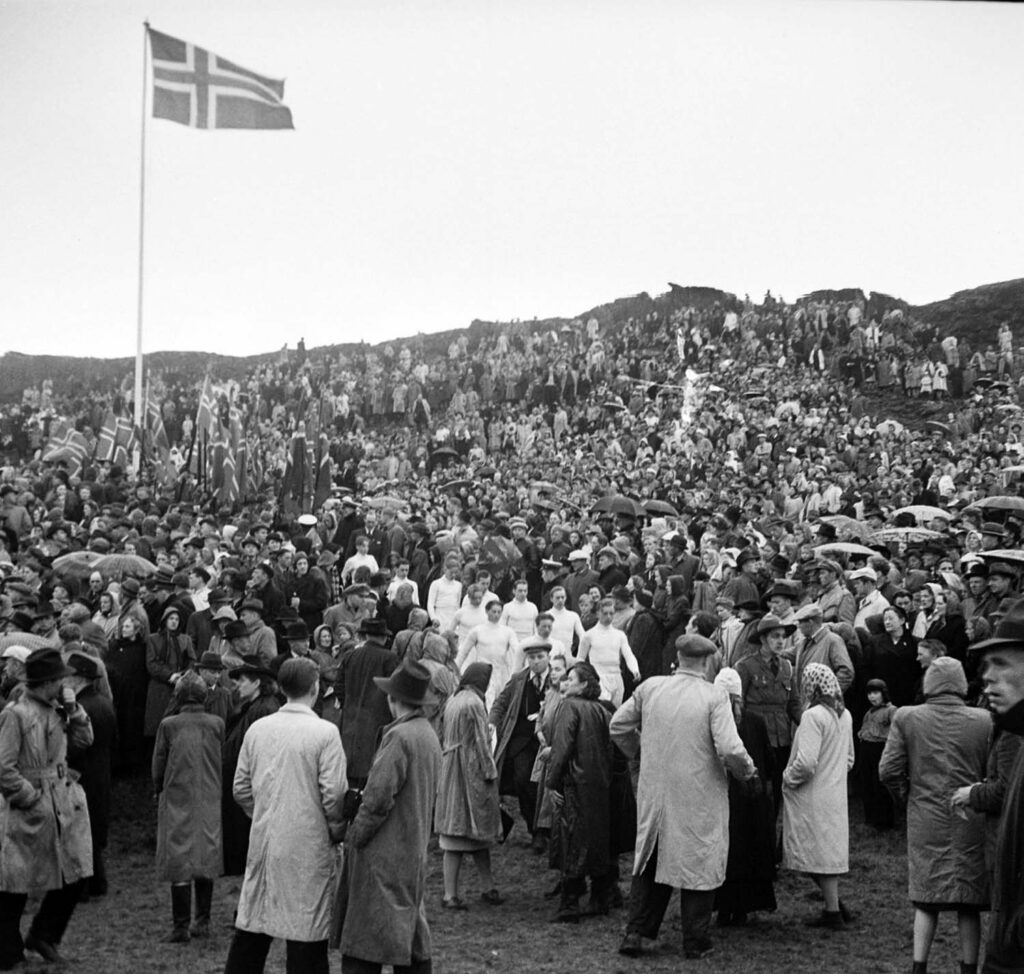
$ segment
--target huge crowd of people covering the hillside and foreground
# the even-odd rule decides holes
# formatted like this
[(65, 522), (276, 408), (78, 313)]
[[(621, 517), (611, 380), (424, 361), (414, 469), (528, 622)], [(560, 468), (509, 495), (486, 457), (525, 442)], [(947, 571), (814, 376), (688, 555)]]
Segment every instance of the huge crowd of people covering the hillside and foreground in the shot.
[[(44, 459), (128, 377), (0, 408), (0, 970), (106, 894), (112, 774), (159, 796), (170, 942), (244, 877), (231, 972), (273, 937), (296, 970), (429, 970), (431, 837), (429, 908), (468, 908), (466, 856), (501, 908), (517, 824), (553, 919), (625, 908), (624, 956), (677, 888), (706, 957), (779, 867), (840, 932), (851, 802), (905, 809), (915, 971), (943, 912), (978, 970), (989, 911), (984, 970), (1024, 970), (1024, 350), (670, 298), (152, 374), (169, 456), (143, 436), (137, 471)], [(248, 444), (228, 501), (204, 408)]]

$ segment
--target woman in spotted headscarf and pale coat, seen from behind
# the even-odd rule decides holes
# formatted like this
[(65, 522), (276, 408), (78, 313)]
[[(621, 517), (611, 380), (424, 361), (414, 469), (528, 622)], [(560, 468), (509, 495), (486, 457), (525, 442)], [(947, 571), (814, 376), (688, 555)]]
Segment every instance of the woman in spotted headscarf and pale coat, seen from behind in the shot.
[(839, 878), (850, 870), (847, 774), (853, 767), (853, 721), (836, 674), (809, 663), (801, 679), (803, 713), (782, 772), (782, 864), (807, 873), (825, 905), (808, 926), (842, 930), (849, 914)]

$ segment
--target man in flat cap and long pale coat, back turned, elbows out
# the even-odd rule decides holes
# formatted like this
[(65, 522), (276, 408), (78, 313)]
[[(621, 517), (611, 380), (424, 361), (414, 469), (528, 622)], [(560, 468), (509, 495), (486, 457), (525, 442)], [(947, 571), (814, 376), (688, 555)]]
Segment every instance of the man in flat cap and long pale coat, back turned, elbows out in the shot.
[(630, 916), (618, 947), (626, 957), (657, 936), (674, 887), (686, 957), (714, 949), (711, 913), (729, 854), (726, 770), (740, 780), (757, 774), (729, 697), (705, 679), (715, 652), (703, 636), (680, 636), (675, 674), (645, 680), (611, 719), (612, 742), (629, 757), (640, 753)]

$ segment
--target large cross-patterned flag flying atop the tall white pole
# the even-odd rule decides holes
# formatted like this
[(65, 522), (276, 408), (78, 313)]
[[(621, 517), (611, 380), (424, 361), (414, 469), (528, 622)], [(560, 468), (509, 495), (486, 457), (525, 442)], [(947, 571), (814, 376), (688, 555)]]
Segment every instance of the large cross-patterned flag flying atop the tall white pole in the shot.
[(193, 128), (294, 128), (285, 82), (150, 30), (153, 117)]

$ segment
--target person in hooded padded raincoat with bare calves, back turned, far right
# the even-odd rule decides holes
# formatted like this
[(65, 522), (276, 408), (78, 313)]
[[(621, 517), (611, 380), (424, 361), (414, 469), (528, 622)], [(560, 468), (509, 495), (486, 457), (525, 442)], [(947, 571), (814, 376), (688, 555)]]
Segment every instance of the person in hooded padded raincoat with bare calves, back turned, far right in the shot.
[(956, 911), (961, 970), (978, 969), (980, 914), (988, 907), (985, 816), (951, 799), (984, 778), (992, 719), (967, 706), (967, 689), (958, 661), (935, 660), (925, 672), (925, 703), (896, 712), (879, 765), (883, 784), (906, 802), (914, 974), (927, 970), (946, 911)]

